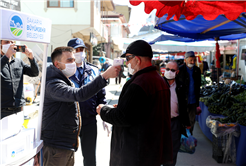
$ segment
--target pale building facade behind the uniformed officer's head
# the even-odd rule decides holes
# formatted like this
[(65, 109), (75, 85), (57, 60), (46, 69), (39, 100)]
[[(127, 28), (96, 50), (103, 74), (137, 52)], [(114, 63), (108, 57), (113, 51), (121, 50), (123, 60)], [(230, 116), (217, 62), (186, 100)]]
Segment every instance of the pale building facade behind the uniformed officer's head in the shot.
[(114, 9), (112, 0), (32, 0), (21, 1), (21, 6), (22, 12), (52, 20), (49, 55), (56, 47), (66, 46), (71, 38), (79, 37), (88, 48), (89, 62), (93, 46), (105, 41), (101, 11)]

